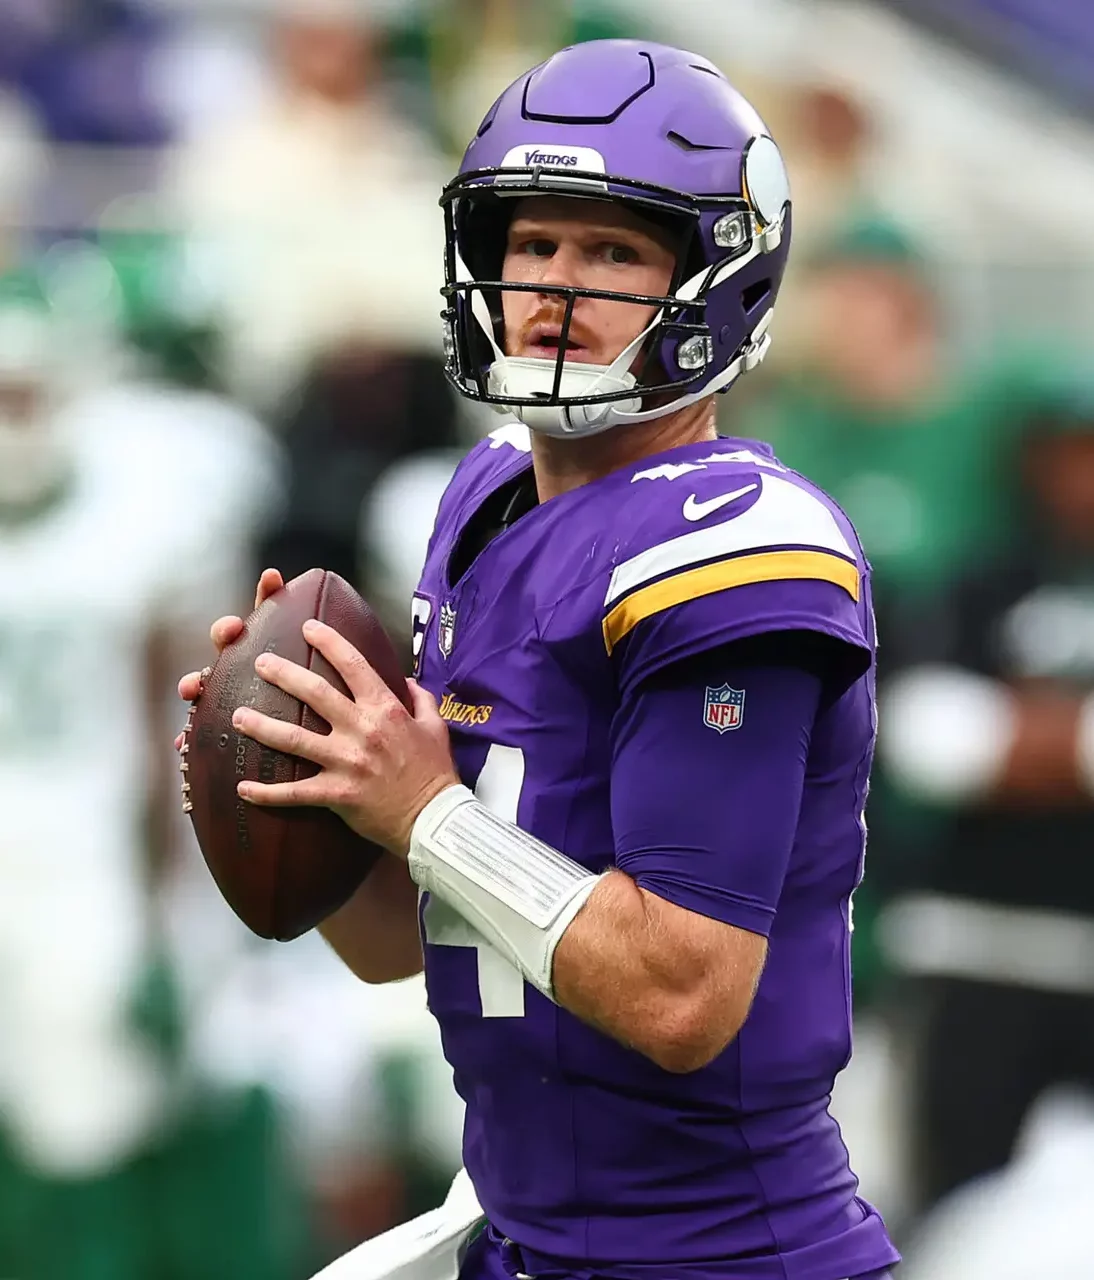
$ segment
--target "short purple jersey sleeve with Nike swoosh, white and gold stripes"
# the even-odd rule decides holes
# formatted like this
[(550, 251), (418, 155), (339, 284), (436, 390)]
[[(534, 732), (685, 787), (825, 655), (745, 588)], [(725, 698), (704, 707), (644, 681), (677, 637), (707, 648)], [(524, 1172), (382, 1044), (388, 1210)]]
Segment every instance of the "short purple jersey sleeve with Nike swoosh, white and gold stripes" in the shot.
[(837, 641), (857, 678), (870, 664), (868, 568), (846, 517), (800, 477), (688, 477), (646, 499), (621, 543), (601, 631), (621, 687), (720, 645), (777, 631)]

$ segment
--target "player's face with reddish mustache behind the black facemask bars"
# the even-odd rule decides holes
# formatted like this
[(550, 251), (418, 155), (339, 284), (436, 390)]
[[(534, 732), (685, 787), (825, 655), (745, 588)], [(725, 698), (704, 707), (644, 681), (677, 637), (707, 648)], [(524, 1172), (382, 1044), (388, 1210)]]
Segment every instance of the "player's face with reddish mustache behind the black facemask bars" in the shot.
[[(663, 296), (674, 269), (669, 237), (630, 210), (608, 201), (532, 196), (519, 202), (509, 224), (502, 278)], [(502, 310), (505, 355), (558, 358), (566, 298), (507, 289)], [(646, 328), (655, 310), (636, 302), (578, 298), (566, 360), (610, 365)]]

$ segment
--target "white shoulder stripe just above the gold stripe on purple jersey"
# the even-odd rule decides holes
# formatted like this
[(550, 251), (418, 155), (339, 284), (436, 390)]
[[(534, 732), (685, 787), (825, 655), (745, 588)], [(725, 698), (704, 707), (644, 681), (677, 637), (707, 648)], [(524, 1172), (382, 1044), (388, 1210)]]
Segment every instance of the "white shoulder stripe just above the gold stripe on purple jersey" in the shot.
[(856, 558), (836, 517), (819, 498), (781, 476), (764, 474), (759, 479), (763, 492), (742, 516), (672, 538), (617, 564), (605, 607), (663, 573), (738, 552), (806, 547)]

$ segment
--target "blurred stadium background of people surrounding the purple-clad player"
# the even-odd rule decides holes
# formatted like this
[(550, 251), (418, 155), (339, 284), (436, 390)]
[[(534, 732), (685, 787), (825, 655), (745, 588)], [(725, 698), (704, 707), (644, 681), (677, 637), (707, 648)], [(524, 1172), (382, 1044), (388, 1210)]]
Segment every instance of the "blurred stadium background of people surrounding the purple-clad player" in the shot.
[(722, 411), (875, 567), (862, 1193), (908, 1280), (1094, 1276), (1090, 5), (0, 0), (5, 1280), (303, 1280), (458, 1164), (420, 984), (216, 895), (173, 686), (266, 563), (406, 634), (496, 422), (443, 378), (440, 184), (612, 35), (713, 58), (791, 166), (777, 343)]

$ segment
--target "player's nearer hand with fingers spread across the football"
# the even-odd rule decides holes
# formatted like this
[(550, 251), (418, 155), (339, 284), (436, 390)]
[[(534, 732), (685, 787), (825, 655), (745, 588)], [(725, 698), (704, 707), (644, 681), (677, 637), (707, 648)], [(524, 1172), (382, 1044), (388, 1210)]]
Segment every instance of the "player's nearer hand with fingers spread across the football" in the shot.
[(313, 733), (241, 707), (232, 723), (276, 751), (299, 755), (320, 772), (296, 782), (241, 782), (239, 795), (260, 805), (320, 805), (333, 809), (358, 836), (406, 858), (415, 819), (445, 787), (459, 782), (448, 726), (436, 701), (409, 681), (407, 710), (369, 662), (333, 627), (303, 625), (305, 640), (345, 681), (352, 698), (313, 671), (273, 653), (255, 659), (255, 671), (292, 694), (330, 724)]

